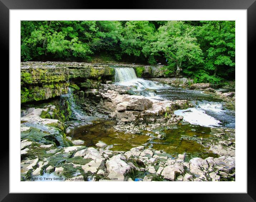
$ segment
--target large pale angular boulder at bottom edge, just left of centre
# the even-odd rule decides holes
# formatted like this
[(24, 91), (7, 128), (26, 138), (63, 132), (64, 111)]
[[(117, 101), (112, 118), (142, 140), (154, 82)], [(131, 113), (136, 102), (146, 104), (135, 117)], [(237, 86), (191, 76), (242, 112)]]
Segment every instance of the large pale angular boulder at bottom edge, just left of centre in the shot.
[(124, 175), (129, 171), (132, 171), (132, 166), (128, 165), (126, 158), (121, 155), (115, 155), (106, 161), (106, 167), (109, 178), (118, 178), (117, 181), (124, 181)]

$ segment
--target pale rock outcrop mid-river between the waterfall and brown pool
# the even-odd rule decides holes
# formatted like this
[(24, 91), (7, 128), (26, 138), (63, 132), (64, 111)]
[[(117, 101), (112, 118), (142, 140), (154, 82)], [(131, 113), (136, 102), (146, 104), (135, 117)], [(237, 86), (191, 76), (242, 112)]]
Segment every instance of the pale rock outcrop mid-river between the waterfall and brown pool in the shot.
[(116, 118), (119, 123), (155, 123), (167, 118), (175, 122), (173, 111), (189, 107), (187, 100), (159, 101), (138, 95), (120, 95), (113, 90), (101, 93), (101, 96), (103, 101), (98, 104), (98, 111)]

